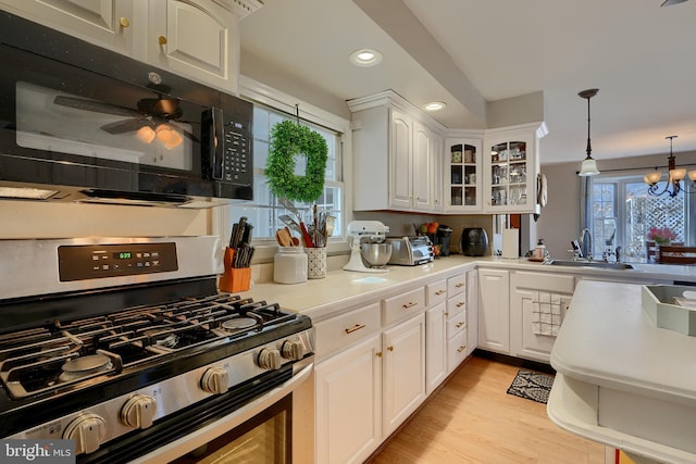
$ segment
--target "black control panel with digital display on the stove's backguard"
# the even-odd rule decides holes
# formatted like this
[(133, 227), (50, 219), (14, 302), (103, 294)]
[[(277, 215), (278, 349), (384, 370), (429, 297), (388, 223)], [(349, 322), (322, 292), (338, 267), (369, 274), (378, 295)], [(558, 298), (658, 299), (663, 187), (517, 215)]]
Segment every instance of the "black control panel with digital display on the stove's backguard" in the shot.
[(60, 281), (178, 269), (174, 242), (61, 246), (58, 263)]

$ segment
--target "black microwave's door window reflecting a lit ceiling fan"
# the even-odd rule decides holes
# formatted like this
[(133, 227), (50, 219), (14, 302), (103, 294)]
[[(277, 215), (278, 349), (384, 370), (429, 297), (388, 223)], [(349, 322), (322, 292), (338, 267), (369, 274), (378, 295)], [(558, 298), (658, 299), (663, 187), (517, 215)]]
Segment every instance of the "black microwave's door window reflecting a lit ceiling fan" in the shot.
[[(44, 151), (191, 171), (192, 126), (179, 100), (140, 95), (115, 104), (16, 83), (16, 143)], [(200, 118), (200, 115), (196, 115)]]

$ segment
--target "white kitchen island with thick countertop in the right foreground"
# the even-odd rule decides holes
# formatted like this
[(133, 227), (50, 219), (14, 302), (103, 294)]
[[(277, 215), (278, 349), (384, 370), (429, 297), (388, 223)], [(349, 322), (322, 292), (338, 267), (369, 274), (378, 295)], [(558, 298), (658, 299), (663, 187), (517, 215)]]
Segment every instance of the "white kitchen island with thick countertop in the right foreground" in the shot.
[(639, 285), (580, 281), (551, 351), (548, 415), (643, 456), (696, 462), (680, 444), (696, 437), (681, 425), (696, 414), (695, 354), (696, 337), (658, 328), (643, 310)]

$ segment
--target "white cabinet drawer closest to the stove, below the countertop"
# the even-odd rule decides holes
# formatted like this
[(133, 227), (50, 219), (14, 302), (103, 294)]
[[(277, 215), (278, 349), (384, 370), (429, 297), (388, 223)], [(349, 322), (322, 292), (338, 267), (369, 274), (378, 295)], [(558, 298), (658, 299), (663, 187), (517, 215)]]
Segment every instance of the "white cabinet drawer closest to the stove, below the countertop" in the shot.
[(327, 356), (380, 329), (380, 303), (314, 325), (316, 356)]

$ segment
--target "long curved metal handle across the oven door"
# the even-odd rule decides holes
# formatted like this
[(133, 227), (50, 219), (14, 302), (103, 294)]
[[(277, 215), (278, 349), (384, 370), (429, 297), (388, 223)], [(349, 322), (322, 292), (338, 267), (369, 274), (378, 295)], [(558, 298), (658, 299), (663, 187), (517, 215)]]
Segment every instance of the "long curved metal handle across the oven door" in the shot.
[(268, 407), (275, 404), (278, 400), (285, 398), (293, 391), (297, 390), (302, 384), (311, 378), (314, 371), (314, 356), (306, 358), (297, 362), (294, 366), (294, 371), (299, 368), (285, 384), (275, 387), (272, 390), (266, 391), (259, 398), (254, 399), (248, 404), (239, 407), (235, 412), (215, 421), (206, 427), (199, 428), (187, 435), (184, 438), (167, 443), (157, 450), (137, 457), (132, 461), (132, 464), (159, 464), (162, 462), (170, 462), (177, 457), (183, 456), (186, 453), (194, 451), (195, 449), (210, 442), (212, 438), (220, 437), (221, 435), (232, 430), (238, 425), (244, 424), (257, 414), (265, 411)]

